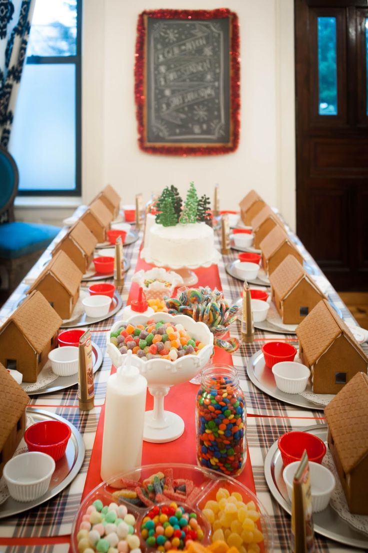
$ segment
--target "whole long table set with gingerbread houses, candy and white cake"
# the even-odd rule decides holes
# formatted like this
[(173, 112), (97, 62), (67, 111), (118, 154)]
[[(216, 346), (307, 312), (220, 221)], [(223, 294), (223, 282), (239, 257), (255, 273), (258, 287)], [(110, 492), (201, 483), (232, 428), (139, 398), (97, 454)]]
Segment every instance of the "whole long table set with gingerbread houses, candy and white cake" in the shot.
[(107, 186), (3, 305), (1, 553), (292, 551), (304, 450), (314, 550), (368, 550), (368, 336), (281, 213), (218, 194)]

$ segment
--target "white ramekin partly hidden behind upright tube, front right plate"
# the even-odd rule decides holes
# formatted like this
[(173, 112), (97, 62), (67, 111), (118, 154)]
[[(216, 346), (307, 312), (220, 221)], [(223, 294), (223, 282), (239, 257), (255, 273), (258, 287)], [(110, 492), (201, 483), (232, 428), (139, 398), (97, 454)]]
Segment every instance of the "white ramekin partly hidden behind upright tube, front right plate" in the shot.
[[(297, 471), (300, 461), (295, 461), (283, 469), (282, 477), (286, 484), (287, 494), (290, 501), (293, 494), (293, 478)], [(323, 511), (329, 504), (331, 494), (335, 489), (335, 477), (328, 468), (309, 461), (311, 492), (312, 492), (312, 510), (313, 513)]]

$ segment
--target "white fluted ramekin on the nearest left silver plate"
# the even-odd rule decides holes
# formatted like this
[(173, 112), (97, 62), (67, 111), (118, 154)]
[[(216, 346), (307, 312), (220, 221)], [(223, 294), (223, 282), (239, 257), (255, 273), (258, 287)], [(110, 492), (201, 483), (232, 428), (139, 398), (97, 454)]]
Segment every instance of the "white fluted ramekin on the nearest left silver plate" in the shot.
[(55, 461), (50, 455), (29, 451), (12, 457), (4, 466), (3, 476), (12, 498), (28, 502), (48, 491), (54, 471)]

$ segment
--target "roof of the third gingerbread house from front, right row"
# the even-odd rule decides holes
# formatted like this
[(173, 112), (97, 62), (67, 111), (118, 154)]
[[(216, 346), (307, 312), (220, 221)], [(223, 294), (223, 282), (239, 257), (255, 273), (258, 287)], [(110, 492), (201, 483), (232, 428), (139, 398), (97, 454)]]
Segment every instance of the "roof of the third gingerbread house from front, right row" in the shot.
[(311, 279), (304, 267), (293, 255), (287, 255), (270, 275), (271, 286), (281, 301), (285, 300), (303, 279), (308, 281), (320, 294), (321, 298), (324, 298), (324, 294), (319, 290), (317, 284), (314, 283), (314, 280)]

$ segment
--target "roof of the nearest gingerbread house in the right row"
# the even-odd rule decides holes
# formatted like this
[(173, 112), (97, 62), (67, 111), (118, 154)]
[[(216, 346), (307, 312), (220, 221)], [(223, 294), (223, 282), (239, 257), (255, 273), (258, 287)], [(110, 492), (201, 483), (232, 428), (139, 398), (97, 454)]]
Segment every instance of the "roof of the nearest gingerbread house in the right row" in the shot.
[(356, 373), (324, 410), (345, 473), (368, 455), (368, 377)]

